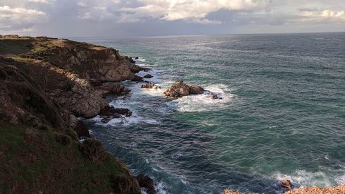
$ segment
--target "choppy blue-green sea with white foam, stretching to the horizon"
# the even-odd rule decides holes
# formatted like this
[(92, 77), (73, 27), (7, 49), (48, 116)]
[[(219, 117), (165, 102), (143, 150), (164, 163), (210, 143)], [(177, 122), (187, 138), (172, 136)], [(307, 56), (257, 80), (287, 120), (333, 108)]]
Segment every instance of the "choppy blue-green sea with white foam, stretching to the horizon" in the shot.
[[(345, 184), (345, 33), (75, 38), (139, 57), (140, 88), (109, 97), (132, 117), (88, 120), (92, 135), (159, 193), (281, 193)], [(139, 72), (146, 75), (147, 72)], [(176, 80), (224, 99), (164, 98)]]

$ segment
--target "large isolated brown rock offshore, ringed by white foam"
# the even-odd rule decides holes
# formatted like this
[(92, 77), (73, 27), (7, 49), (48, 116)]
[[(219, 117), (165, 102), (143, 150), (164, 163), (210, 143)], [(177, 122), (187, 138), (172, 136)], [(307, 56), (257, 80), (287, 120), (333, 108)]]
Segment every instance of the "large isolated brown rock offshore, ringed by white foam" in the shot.
[(184, 81), (176, 81), (176, 84), (165, 90), (164, 95), (167, 97), (182, 97), (201, 93), (204, 93), (204, 88), (201, 88), (200, 86), (188, 86), (187, 84), (184, 84)]

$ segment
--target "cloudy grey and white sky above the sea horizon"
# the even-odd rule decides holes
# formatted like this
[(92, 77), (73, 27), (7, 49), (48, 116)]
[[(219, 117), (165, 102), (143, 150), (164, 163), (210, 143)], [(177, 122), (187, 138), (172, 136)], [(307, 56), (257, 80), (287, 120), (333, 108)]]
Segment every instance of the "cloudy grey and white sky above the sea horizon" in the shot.
[(136, 37), (345, 32), (345, 0), (0, 0), (0, 34)]

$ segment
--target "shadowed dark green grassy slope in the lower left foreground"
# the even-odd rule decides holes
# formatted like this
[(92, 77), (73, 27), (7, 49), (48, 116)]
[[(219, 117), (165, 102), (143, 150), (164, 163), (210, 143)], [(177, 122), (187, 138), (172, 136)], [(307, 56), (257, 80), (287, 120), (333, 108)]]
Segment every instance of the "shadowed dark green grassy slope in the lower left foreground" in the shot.
[(0, 126), (8, 148), (0, 155), (0, 193), (139, 193), (122, 162), (108, 153), (93, 162), (78, 141), (59, 139), (51, 130)]

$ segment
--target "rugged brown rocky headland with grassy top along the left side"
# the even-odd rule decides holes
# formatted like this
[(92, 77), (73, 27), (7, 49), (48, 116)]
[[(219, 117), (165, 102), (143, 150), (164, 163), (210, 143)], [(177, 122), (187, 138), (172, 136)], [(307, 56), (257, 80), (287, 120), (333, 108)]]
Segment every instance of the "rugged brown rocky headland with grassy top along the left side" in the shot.
[(111, 48), (0, 39), (0, 193), (140, 193), (121, 161), (70, 127), (108, 106), (92, 84), (139, 70)]

